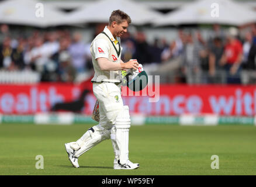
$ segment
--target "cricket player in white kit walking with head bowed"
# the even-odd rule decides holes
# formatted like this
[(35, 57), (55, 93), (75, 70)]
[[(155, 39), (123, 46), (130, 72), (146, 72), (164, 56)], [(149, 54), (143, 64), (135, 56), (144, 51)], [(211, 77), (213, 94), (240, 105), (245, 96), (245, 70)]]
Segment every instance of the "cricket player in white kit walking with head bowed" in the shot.
[(93, 92), (99, 102), (99, 124), (88, 129), (79, 140), (66, 143), (65, 149), (71, 164), (78, 168), (78, 158), (103, 140), (111, 138), (115, 153), (114, 169), (136, 169), (139, 164), (129, 160), (130, 115), (121, 97), (122, 70), (137, 70), (137, 60), (123, 63), (120, 37), (127, 32), (130, 16), (116, 10), (109, 25), (91, 43), (94, 65)]

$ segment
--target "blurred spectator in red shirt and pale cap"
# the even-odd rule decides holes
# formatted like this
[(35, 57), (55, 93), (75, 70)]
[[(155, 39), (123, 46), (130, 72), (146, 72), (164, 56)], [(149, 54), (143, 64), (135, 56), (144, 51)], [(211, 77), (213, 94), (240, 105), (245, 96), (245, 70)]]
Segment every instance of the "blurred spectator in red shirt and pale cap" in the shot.
[(238, 30), (229, 29), (224, 53), (220, 59), (220, 65), (224, 67), (227, 76), (227, 84), (240, 84), (241, 61), (243, 59), (243, 45), (236, 39)]

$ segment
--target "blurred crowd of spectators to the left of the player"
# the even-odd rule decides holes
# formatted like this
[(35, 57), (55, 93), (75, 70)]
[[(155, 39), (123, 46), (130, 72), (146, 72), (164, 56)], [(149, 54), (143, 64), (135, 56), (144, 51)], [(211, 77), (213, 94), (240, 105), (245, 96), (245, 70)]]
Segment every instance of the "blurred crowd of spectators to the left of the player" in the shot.
[(12, 38), (2, 27), (2, 70), (36, 71), (40, 73), (42, 82), (74, 82), (78, 73), (91, 68), (89, 44), (82, 41), (79, 32), (35, 30), (28, 37), (20, 34), (18, 38)]

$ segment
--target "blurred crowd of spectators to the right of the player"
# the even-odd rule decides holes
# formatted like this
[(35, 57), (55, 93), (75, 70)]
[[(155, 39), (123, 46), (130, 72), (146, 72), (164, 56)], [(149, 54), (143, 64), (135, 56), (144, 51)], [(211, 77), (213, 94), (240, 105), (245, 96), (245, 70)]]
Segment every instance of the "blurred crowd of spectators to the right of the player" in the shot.
[[(123, 58), (137, 58), (151, 74), (187, 84), (253, 84), (256, 82), (256, 26), (243, 34), (236, 27), (213, 25), (204, 38), (199, 30), (178, 29), (170, 43), (147, 43), (144, 33), (124, 41)], [(154, 64), (154, 65), (152, 65)], [(166, 76), (164, 76), (166, 75)]]

